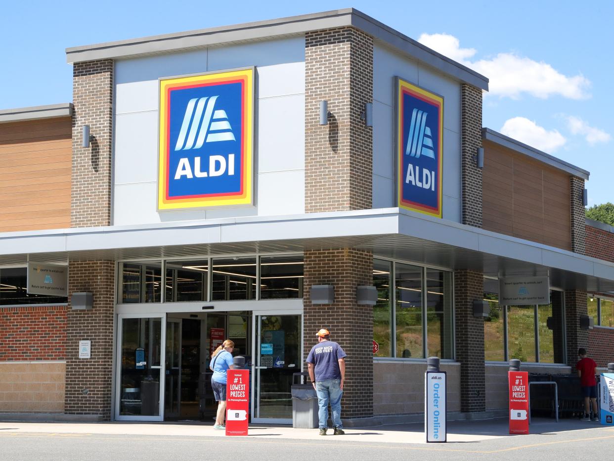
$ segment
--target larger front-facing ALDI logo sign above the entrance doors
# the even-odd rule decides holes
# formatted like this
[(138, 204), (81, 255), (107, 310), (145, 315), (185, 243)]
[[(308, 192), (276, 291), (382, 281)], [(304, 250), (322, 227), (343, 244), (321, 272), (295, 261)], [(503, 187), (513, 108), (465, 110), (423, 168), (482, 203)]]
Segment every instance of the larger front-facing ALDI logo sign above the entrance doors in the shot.
[(158, 210), (253, 201), (254, 68), (160, 79)]

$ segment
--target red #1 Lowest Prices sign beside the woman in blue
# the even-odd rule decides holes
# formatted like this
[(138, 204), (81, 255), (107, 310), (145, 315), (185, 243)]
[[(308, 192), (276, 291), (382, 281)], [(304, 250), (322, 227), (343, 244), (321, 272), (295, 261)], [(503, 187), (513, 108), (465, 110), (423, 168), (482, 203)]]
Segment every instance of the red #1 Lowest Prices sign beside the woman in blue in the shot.
[(226, 381), (226, 435), (247, 435), (249, 370), (228, 370)]

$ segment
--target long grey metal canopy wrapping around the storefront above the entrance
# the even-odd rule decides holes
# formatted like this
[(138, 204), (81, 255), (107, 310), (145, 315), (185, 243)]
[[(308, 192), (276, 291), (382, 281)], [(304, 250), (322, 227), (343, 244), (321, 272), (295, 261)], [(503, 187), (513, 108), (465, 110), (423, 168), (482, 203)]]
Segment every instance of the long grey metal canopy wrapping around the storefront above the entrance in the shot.
[(614, 290), (614, 264), (487, 230), (383, 208), (4, 234), (0, 264), (198, 258), (357, 248), (380, 258), (484, 275), (550, 275), (565, 290)]

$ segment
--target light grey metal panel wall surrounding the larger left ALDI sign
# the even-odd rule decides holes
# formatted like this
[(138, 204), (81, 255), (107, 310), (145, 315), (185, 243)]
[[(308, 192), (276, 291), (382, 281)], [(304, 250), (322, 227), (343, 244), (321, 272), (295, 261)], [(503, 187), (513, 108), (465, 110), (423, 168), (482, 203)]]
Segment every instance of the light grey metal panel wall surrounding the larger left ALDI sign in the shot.
[[(256, 66), (255, 206), (157, 211), (158, 78)], [(115, 63), (113, 224), (305, 211), (305, 39)]]

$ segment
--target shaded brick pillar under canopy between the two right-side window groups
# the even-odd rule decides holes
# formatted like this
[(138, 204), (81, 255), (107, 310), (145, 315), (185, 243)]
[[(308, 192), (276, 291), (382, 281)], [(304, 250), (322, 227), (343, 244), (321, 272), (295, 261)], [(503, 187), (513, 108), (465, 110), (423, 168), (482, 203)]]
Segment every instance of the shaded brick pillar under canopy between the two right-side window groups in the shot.
[(486, 409), (484, 376), (484, 319), (473, 317), (473, 300), (484, 297), (480, 272), (454, 272), (454, 315), (456, 320), (456, 360), (461, 362), (461, 411)]

